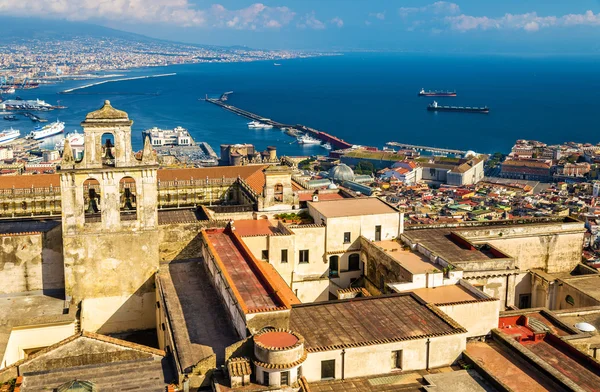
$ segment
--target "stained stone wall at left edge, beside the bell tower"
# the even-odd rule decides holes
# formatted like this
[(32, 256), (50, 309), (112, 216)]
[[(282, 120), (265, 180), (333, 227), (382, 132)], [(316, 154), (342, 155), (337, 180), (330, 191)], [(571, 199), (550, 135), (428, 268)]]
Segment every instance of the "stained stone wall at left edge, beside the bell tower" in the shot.
[(60, 225), (46, 233), (0, 235), (0, 294), (64, 288)]

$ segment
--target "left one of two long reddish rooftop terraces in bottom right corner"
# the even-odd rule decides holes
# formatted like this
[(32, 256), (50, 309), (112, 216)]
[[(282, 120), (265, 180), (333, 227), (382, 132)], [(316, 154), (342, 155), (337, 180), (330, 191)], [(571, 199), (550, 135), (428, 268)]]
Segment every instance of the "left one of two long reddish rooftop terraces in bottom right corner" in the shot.
[(566, 392), (533, 365), (494, 341), (469, 342), (466, 351), (490, 374), (515, 392)]

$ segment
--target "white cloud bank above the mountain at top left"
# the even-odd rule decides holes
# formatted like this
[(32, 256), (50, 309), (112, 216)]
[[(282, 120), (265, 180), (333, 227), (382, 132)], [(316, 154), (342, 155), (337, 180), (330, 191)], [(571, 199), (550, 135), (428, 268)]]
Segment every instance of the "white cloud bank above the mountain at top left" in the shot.
[(234, 29), (280, 28), (295, 17), (287, 7), (255, 3), (229, 10), (215, 4), (203, 10), (189, 0), (0, 0), (0, 14)]

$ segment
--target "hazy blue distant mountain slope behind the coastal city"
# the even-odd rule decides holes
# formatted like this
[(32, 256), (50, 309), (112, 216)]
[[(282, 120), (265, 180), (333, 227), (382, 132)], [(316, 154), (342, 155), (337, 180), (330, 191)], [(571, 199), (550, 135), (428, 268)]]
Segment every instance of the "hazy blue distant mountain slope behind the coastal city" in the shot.
[(91, 23), (0, 16), (0, 44), (19, 40), (66, 40), (75, 37), (120, 38), (138, 42), (166, 42)]

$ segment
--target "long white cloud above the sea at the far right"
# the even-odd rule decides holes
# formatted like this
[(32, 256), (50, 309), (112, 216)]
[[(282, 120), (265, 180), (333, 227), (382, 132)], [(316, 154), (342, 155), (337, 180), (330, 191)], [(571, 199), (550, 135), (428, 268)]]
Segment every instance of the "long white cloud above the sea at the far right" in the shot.
[(568, 14), (563, 16), (539, 16), (535, 12), (526, 14), (505, 14), (497, 18), (487, 16), (456, 15), (447, 16), (445, 21), (454, 30), (524, 30), (536, 32), (547, 27), (567, 26), (598, 26), (600, 25), (600, 13), (594, 14), (587, 11), (584, 14)]

